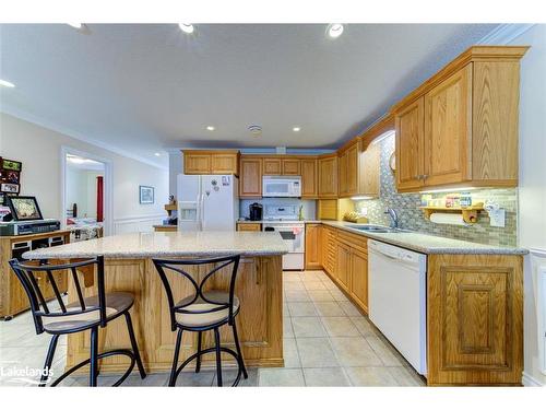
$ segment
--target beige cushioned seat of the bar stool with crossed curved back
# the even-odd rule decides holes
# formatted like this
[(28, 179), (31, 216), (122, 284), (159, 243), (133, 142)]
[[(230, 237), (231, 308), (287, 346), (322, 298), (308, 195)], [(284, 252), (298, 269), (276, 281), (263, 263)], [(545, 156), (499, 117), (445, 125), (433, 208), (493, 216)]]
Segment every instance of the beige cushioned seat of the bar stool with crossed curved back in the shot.
[[(187, 328), (200, 328), (219, 325), (224, 321), (227, 321), (227, 319), (229, 318), (229, 307), (226, 306), (222, 309), (210, 312), (211, 309), (218, 307), (218, 305), (215, 305), (214, 303), (210, 303), (207, 301), (218, 304), (229, 304), (229, 292), (209, 291), (203, 292), (203, 296), (204, 298), (198, 296), (195, 302), (183, 307), (183, 309), (188, 311), (188, 313), (175, 313), (175, 319), (180, 326)], [(177, 306), (183, 306), (185, 304), (190, 303), (193, 297), (195, 296), (193, 295), (182, 298), (177, 303)], [(234, 315), (239, 312), (239, 298), (234, 295)]]

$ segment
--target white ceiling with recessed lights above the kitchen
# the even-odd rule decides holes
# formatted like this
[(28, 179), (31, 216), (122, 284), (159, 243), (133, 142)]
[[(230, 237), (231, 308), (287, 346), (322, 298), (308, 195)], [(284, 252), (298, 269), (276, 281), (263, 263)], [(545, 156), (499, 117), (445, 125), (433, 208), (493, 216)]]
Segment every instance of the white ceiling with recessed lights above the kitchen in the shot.
[(182, 147), (330, 149), (495, 27), (352, 24), (330, 39), (323, 24), (193, 37), (176, 24), (2, 24), (0, 79), (16, 87), (0, 109), (162, 165), (155, 152)]

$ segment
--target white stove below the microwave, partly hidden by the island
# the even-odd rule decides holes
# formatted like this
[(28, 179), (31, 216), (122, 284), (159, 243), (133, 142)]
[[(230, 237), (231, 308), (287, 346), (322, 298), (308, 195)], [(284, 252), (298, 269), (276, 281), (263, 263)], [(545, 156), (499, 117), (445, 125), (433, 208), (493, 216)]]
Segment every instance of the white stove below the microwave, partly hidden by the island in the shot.
[(265, 206), (262, 231), (274, 231), (287, 243), (289, 251), (283, 255), (284, 270), (304, 270), (306, 225), (299, 221), (298, 206)]

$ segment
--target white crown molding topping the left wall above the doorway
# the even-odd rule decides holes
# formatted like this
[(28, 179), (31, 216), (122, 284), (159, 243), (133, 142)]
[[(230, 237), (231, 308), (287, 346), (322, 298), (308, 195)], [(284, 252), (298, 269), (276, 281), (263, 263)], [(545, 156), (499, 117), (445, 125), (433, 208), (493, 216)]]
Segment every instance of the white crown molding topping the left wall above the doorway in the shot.
[(155, 168), (159, 168), (159, 169), (163, 169), (163, 171), (168, 171), (168, 166), (164, 166), (164, 165), (157, 164), (157, 163), (155, 163), (153, 161), (150, 161), (150, 160), (147, 160), (145, 157), (142, 157), (142, 156), (136, 155), (136, 154), (132, 154), (130, 152), (127, 152), (127, 151), (124, 151), (124, 150), (122, 150), (120, 148), (110, 145), (110, 144), (105, 143), (103, 141), (97, 141), (97, 140), (93, 139), (93, 138), (84, 137), (84, 136), (80, 134), (79, 132), (75, 132), (75, 131), (73, 131), (71, 129), (68, 129), (68, 128), (64, 128), (64, 127), (59, 127), (56, 124), (52, 124), (52, 122), (49, 122), (49, 121), (44, 121), (40, 118), (37, 118), (37, 117), (35, 117), (33, 115), (29, 115), (29, 114), (26, 114), (26, 113), (21, 113), (17, 109), (9, 109), (9, 108), (7, 109), (5, 107), (2, 107), (1, 113), (10, 115), (10, 116), (15, 117), (15, 118), (19, 118), (19, 119), (21, 119), (23, 121), (27, 121), (27, 122), (34, 124), (34, 125), (36, 125), (38, 127), (46, 128), (46, 129), (48, 129), (50, 131), (56, 131), (56, 132), (62, 133), (63, 136), (73, 138), (74, 140), (78, 140), (78, 141), (85, 142), (85, 143), (87, 143), (90, 145), (94, 145), (96, 148), (100, 148), (100, 149), (109, 151), (109, 152), (111, 152), (114, 154), (117, 154), (117, 155), (120, 155), (120, 156), (123, 156), (123, 157), (127, 157), (127, 159), (130, 159), (130, 160), (139, 161), (141, 163), (144, 163), (146, 165), (153, 166)]

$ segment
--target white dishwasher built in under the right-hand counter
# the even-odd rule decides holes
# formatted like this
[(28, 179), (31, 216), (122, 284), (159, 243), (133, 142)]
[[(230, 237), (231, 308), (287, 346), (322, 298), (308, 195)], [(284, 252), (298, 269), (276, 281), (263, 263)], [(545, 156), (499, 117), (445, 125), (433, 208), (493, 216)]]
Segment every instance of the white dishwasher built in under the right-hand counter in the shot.
[(427, 374), (427, 256), (368, 241), (368, 314), (396, 350)]

